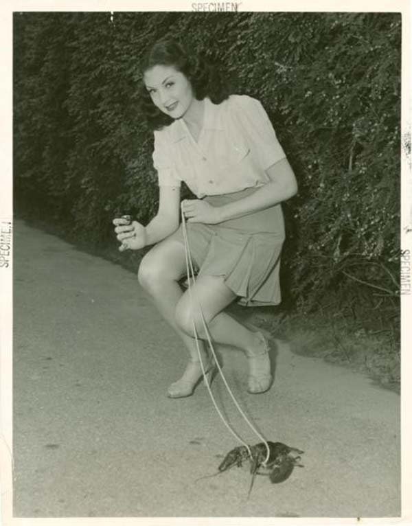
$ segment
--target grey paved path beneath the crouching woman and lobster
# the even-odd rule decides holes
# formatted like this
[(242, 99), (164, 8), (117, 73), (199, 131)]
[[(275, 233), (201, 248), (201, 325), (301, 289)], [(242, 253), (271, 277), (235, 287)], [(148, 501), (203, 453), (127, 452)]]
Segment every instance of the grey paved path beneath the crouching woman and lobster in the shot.
[[(305, 451), (271, 485), (246, 467), (216, 471), (238, 445), (207, 390), (166, 398), (185, 365), (174, 333), (135, 274), (16, 221), (16, 516), (397, 516), (400, 403), (364, 376), (295, 356), (277, 342), (275, 383), (245, 391), (247, 363), (225, 371), (264, 435)], [(223, 391), (214, 391), (251, 443)]]

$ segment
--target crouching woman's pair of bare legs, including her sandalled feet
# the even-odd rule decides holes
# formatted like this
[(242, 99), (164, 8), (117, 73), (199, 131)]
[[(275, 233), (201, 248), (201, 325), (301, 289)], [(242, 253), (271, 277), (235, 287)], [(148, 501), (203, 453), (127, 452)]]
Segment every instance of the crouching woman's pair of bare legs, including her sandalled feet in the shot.
[[(170, 396), (187, 396), (202, 370), (198, 363), (198, 349), (194, 340), (193, 320), (196, 323), (197, 334), (205, 339), (200, 311), (192, 308), (190, 293), (183, 293), (179, 279), (186, 273), (185, 252), (183, 245), (176, 240), (164, 240), (146, 254), (139, 268), (139, 282), (155, 302), (159, 312), (174, 328), (185, 343), (190, 353), (190, 363), (187, 365), (181, 380), (175, 382), (169, 391)], [(203, 315), (208, 325), (212, 339), (218, 343), (233, 345), (244, 350), (248, 356), (251, 376), (249, 391), (262, 392), (262, 385), (253, 378), (263, 378), (268, 385), (270, 377), (270, 361), (265, 354), (266, 343), (262, 335), (252, 332), (227, 315), (222, 310), (236, 299), (236, 295), (228, 288), (222, 277), (201, 276), (192, 286), (192, 297), (198, 299)], [(207, 363), (207, 354), (203, 341), (198, 342), (203, 363)], [(260, 355), (260, 356), (259, 356)], [(266, 376), (266, 380), (265, 377)], [(270, 379), (270, 378), (269, 378)], [(263, 380), (262, 380), (263, 381)], [(253, 387), (253, 382), (255, 382)], [(267, 387), (266, 387), (267, 388)]]

